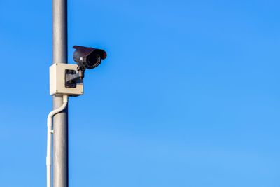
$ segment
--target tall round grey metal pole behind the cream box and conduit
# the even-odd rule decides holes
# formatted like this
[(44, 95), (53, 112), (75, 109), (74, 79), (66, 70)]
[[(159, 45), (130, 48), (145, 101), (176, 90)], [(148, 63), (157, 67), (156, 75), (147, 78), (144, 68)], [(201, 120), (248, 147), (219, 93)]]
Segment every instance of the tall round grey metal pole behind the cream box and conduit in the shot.
[[(52, 0), (52, 63), (67, 63), (67, 0)], [(62, 106), (62, 96), (52, 106)], [(68, 108), (53, 120), (53, 187), (68, 187)]]

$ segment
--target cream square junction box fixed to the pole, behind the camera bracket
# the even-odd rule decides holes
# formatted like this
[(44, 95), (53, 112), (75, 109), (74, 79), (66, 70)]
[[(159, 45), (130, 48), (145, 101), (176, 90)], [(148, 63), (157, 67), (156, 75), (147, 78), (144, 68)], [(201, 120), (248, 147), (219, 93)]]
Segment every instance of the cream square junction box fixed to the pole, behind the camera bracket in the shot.
[(77, 71), (76, 64), (52, 64), (50, 66), (50, 95), (83, 95), (83, 79), (76, 81), (76, 88), (65, 87), (66, 70)]

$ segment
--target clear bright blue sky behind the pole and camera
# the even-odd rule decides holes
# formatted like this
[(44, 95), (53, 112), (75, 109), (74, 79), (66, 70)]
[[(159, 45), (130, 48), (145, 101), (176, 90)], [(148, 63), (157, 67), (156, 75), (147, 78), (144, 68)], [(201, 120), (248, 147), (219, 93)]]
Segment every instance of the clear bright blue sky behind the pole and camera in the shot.
[[(1, 186), (45, 186), (51, 1), (0, 1)], [(104, 48), (70, 98), (69, 183), (279, 187), (279, 1), (69, 0)]]

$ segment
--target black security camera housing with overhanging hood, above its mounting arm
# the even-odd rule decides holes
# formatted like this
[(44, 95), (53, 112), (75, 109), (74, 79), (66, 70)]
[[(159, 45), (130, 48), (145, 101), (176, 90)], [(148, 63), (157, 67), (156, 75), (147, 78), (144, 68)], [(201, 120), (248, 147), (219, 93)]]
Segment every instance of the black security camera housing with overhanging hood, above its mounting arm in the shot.
[(107, 57), (105, 50), (102, 49), (83, 46), (73, 46), (73, 48), (76, 49), (73, 53), (73, 60), (82, 69), (93, 69)]

